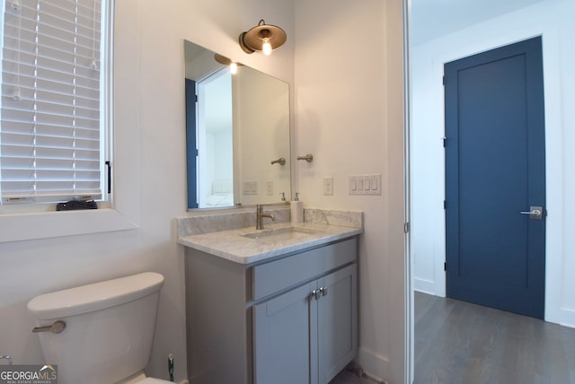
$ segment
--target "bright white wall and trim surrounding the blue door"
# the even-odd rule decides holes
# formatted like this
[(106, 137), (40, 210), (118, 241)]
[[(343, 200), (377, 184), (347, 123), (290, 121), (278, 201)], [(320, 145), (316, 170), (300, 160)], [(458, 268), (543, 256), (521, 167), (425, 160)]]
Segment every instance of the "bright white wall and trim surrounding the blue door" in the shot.
[(571, 0), (548, 0), (411, 49), (411, 250), (415, 288), (445, 296), (443, 64), (543, 36), (547, 188), (545, 319), (575, 327), (575, 25)]

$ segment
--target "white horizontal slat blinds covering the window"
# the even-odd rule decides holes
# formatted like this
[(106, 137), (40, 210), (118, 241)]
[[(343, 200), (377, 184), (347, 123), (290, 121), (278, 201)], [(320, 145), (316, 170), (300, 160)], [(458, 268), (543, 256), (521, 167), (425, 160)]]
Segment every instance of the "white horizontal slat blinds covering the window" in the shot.
[(2, 203), (100, 198), (101, 1), (4, 7)]

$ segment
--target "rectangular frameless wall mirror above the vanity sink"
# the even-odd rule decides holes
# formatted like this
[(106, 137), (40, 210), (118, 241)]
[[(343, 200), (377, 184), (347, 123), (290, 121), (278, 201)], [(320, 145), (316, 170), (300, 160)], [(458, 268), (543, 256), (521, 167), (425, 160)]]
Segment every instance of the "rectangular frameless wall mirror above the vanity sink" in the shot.
[[(184, 40), (188, 209), (291, 198), (289, 86)], [(222, 64), (224, 62), (225, 64)]]

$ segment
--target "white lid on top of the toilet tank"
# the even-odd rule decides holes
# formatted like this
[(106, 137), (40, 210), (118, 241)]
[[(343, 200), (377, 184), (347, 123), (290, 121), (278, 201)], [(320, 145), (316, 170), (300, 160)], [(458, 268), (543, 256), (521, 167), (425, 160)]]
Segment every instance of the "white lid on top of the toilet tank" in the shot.
[(40, 294), (28, 302), (28, 310), (37, 319), (63, 318), (134, 301), (159, 291), (162, 285), (163, 275), (145, 272)]

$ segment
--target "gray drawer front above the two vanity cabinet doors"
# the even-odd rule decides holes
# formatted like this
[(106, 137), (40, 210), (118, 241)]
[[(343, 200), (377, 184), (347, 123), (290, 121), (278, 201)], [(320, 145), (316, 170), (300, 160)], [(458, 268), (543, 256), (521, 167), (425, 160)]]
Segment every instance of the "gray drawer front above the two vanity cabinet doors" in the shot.
[(252, 300), (303, 283), (356, 259), (356, 238), (252, 267)]

